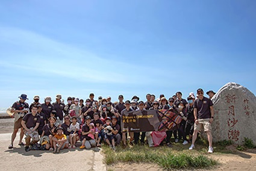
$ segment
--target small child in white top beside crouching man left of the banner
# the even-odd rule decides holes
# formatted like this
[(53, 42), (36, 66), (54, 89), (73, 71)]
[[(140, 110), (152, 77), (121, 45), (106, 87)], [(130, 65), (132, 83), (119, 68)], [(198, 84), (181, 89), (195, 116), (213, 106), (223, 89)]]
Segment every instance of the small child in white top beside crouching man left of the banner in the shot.
[[(114, 151), (116, 150), (116, 148), (114, 147), (114, 134), (113, 134), (113, 128), (111, 126), (111, 119), (110, 117), (107, 117), (106, 119), (106, 123), (103, 125), (104, 128), (104, 132), (105, 132), (105, 140), (108, 143), (108, 145), (110, 146), (110, 148), (112, 148)], [(112, 146), (111, 146), (111, 143)]]

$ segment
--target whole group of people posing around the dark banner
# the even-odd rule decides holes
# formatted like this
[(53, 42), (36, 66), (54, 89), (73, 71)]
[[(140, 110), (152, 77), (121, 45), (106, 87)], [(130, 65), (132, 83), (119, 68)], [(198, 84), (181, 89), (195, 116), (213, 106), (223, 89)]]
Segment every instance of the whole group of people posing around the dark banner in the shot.
[[(202, 89), (198, 89), (196, 93), (196, 97), (194, 93), (190, 93), (187, 100), (182, 98), (181, 92), (176, 92), (168, 100), (164, 95), (156, 99), (155, 95), (148, 94), (145, 102), (139, 101), (140, 98), (137, 96), (133, 96), (131, 101), (124, 102), (123, 95), (119, 95), (119, 102), (111, 102), (110, 96), (99, 96), (98, 100), (95, 100), (95, 95), (90, 93), (85, 102), (83, 99), (69, 97), (66, 105), (61, 95), (56, 95), (56, 101), (53, 103), (51, 97), (46, 97), (43, 104), (40, 104), (39, 96), (34, 96), (34, 102), (28, 105), (25, 102), (28, 99), (27, 95), (22, 94), (19, 101), (14, 102), (11, 107), (15, 120), (8, 148), (13, 148), (19, 129), (19, 145), (25, 145), (25, 151), (43, 149), (59, 153), (60, 149), (75, 149), (77, 141), (81, 141), (80, 149), (99, 147), (106, 143), (115, 151), (121, 141), (123, 146), (126, 146), (128, 134), (130, 145), (143, 145), (147, 142), (149, 146), (154, 146), (152, 132), (122, 131), (122, 115), (137, 110), (176, 110), (182, 121), (176, 130), (161, 132), (166, 135), (166, 145), (172, 147), (170, 138), (173, 134), (175, 143), (180, 140), (183, 140), (183, 145), (192, 142), (189, 149), (194, 149), (198, 131), (204, 130), (209, 141), (208, 152), (212, 153), (211, 122), (214, 110), (211, 98), (215, 93), (212, 90), (208, 91), (209, 98), (204, 96)], [(24, 134), (25, 144), (22, 142)]]

